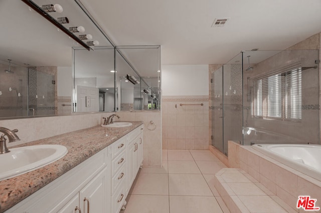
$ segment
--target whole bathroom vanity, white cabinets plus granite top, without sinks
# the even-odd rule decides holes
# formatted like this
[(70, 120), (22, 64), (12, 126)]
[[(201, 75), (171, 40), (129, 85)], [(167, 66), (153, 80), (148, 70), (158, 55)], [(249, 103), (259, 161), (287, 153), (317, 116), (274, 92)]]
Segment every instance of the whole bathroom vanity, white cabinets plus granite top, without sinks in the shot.
[(0, 181), (0, 212), (116, 213), (142, 166), (143, 125), (95, 126), (24, 145), (61, 144), (68, 153)]

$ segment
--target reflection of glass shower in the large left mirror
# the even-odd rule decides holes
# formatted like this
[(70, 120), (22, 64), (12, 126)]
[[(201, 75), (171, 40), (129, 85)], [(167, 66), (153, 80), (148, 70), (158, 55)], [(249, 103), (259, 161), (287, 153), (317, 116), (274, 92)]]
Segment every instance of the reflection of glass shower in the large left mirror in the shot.
[(55, 114), (55, 74), (43, 69), (0, 61), (0, 117)]

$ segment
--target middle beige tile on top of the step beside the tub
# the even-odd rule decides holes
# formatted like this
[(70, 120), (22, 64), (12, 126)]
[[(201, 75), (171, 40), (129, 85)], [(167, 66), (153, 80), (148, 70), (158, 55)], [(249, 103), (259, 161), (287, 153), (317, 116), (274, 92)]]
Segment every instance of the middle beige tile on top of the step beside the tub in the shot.
[(255, 183), (229, 182), (227, 183), (236, 195), (266, 195)]

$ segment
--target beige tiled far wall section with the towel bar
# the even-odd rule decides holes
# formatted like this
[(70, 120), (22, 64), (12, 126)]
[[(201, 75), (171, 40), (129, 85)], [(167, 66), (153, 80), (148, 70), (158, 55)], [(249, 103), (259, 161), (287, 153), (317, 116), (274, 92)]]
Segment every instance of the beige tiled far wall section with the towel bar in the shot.
[(209, 149), (208, 96), (163, 96), (162, 120), (163, 149)]

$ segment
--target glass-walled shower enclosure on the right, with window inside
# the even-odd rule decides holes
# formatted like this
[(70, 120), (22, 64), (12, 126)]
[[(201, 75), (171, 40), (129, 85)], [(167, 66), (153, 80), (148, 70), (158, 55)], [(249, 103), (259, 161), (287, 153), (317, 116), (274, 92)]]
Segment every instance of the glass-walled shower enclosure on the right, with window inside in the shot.
[(320, 143), (318, 50), (243, 51), (212, 73), (212, 145)]

